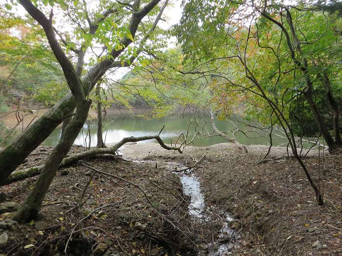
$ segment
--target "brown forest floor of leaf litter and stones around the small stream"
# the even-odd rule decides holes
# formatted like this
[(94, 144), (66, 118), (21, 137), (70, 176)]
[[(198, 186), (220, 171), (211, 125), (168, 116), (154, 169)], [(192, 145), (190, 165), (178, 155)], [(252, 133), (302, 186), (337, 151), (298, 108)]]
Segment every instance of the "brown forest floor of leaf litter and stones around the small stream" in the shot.
[[(323, 165), (322, 157), (305, 159), (315, 179), (319, 164), (324, 167), (325, 205), (318, 206), (294, 159), (257, 164), (267, 147), (247, 148), (248, 154), (242, 154), (234, 145), (221, 143), (187, 147), (179, 154), (159, 144), (126, 145), (121, 152), (131, 162), (91, 159), (87, 163), (131, 183), (95, 176), (80, 211), (69, 210), (89, 181), (90, 170), (80, 164), (63, 168), (50, 186), (38, 219), (2, 230), (0, 236), (8, 235), (2, 253), (62, 255), (73, 230), (67, 250), (73, 256), (183, 256), (196, 255), (198, 250), (208, 255), (210, 240), (217, 240), (219, 222), (193, 220), (188, 213), (190, 198), (183, 195), (180, 179), (172, 173), (177, 164), (191, 165), (205, 154), (191, 172), (200, 180), (205, 209), (210, 209), (211, 216), (225, 212), (234, 217), (229, 224), (232, 232), (222, 239), (230, 248), (226, 254), (341, 255), (342, 156), (324, 156)], [(51, 149), (38, 148), (19, 168), (42, 164)], [(81, 150), (73, 147), (70, 154)], [(285, 155), (285, 148), (271, 151), (273, 158)], [(1, 192), (8, 195), (8, 201), (21, 203), (36, 179), (2, 186)], [(5, 212), (0, 218), (12, 215)]]

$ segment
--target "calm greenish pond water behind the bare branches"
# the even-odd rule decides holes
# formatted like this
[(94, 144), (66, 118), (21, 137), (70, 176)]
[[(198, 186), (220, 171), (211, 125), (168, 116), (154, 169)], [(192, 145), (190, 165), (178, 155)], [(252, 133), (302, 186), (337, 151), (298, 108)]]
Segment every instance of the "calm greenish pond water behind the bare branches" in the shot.
[[(103, 138), (105, 143), (114, 143), (120, 141), (122, 138), (129, 136), (145, 136), (145, 135), (155, 135), (158, 134), (163, 125), (165, 125), (164, 130), (161, 133), (161, 138), (166, 143), (170, 143), (171, 139), (177, 138), (181, 133), (186, 133), (188, 128), (188, 122), (190, 117), (182, 118), (182, 117), (169, 117), (169, 118), (155, 118), (155, 119), (146, 119), (137, 116), (118, 116), (118, 117), (107, 117), (104, 121), (103, 127)], [(209, 120), (209, 118), (208, 118)], [(234, 128), (234, 125), (227, 121), (216, 121), (215, 122), (218, 129), (221, 131), (229, 131)], [(237, 124), (237, 123), (235, 123)], [(256, 124), (256, 123), (255, 123)], [(209, 132), (213, 131), (211, 123), (206, 124), (206, 129)], [(239, 126), (242, 130), (248, 130), (251, 128), (247, 128), (244, 126)], [(54, 146), (58, 143), (61, 137), (61, 127), (58, 127), (48, 138), (43, 141), (43, 145), (45, 146)], [(194, 126), (190, 127), (190, 131), (193, 134)], [(91, 146), (96, 146), (97, 143), (97, 122), (87, 121), (83, 127), (83, 130), (80, 132), (78, 137), (76, 138), (74, 144), (78, 145), (89, 145), (89, 136), (87, 136), (88, 130), (90, 130), (91, 134)], [(230, 134), (232, 135), (232, 134)], [(251, 145), (251, 144), (263, 144), (267, 145), (269, 138), (260, 137), (256, 132), (248, 132), (248, 137), (244, 136), (242, 133), (237, 133), (236, 138), (241, 144)], [(189, 139), (192, 137), (189, 136)], [(286, 143), (285, 138), (274, 138), (273, 145), (281, 145)], [(150, 143), (156, 142), (153, 140), (145, 140), (140, 143)], [(214, 136), (204, 139), (195, 138), (193, 140), (192, 146), (208, 146), (216, 143), (226, 142), (220, 136)]]

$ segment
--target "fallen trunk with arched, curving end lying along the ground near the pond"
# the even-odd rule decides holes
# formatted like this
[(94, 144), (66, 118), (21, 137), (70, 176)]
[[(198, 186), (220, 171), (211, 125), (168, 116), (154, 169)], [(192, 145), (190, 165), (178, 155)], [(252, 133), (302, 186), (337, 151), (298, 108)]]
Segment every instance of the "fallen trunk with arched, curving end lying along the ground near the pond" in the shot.
[[(124, 144), (128, 142), (137, 142), (137, 141), (142, 141), (142, 140), (148, 140), (148, 139), (156, 139), (158, 143), (165, 149), (167, 150), (177, 150), (179, 153), (182, 153), (182, 150), (180, 147), (173, 147), (166, 145), (163, 140), (160, 138), (159, 135), (150, 135), (150, 136), (142, 136), (142, 137), (127, 137), (123, 138), (120, 140), (118, 143), (115, 145), (108, 147), (108, 148), (93, 148), (88, 151), (84, 151), (75, 155), (72, 155), (70, 157), (64, 158), (63, 161), (61, 162), (59, 168), (69, 166), (72, 164), (77, 163), (80, 160), (87, 159), (87, 158), (92, 158), (95, 156), (102, 156), (102, 155), (112, 155), (116, 156), (116, 151), (122, 147)], [(124, 161), (126, 159), (122, 158)], [(126, 160), (127, 161), (127, 160)], [(43, 169), (43, 165), (40, 166), (35, 166), (35, 167), (30, 167), (24, 170), (16, 171), (13, 172), (11, 175), (9, 175), (5, 180), (1, 181), (0, 185), (7, 185), (12, 182), (22, 180), (28, 177), (34, 177), (37, 176), (41, 173)]]

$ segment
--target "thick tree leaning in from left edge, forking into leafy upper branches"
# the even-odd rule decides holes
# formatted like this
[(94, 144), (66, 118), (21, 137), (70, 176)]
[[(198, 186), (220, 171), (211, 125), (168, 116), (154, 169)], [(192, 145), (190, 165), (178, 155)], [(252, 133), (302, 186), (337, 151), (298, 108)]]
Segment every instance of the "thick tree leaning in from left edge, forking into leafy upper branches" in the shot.
[[(54, 2), (57, 7), (50, 6), (51, 11), (49, 18), (47, 18), (30, 0), (20, 1), (26, 11), (43, 26), (56, 58), (64, 54), (65, 49), (77, 55), (77, 63), (73, 66), (72, 62), (68, 61), (67, 65), (65, 65), (64, 60), (61, 61), (57, 58), (62, 66), (71, 93), (66, 95), (0, 152), (0, 179), (8, 177), (65, 118), (72, 115), (73, 109), (77, 106), (77, 98), (74, 95), (79, 95), (75, 90), (81, 91), (81, 89), (79, 86), (70, 86), (70, 84), (81, 84), (84, 95), (87, 97), (107, 70), (129, 66), (134, 60), (139, 59), (140, 52), (147, 45), (148, 39), (152, 37), (157, 28), (157, 23), (168, 4), (168, 1), (166, 1), (156, 11), (154, 8), (159, 2), (160, 0), (147, 2), (134, 0), (128, 3), (106, 1), (95, 13), (89, 14), (85, 1), (59, 1), (58, 3)], [(76, 27), (75, 38), (81, 38), (78, 42), (72, 41), (67, 32), (61, 33), (53, 26), (53, 8), (62, 10), (62, 16), (69, 17), (69, 20), (73, 22)], [(83, 12), (79, 12), (79, 9), (82, 9)], [(43, 10), (45, 11), (46, 7)], [(151, 19), (154, 17), (154, 21), (152, 21), (149, 28), (141, 25), (145, 17)], [(150, 19), (146, 20), (145, 22), (150, 21)], [(57, 37), (60, 38), (64, 49), (59, 46)], [(130, 47), (129, 45), (133, 40), (135, 47)], [(93, 61), (90, 69), (82, 73), (85, 52), (87, 49), (93, 50), (93, 41), (103, 45), (103, 50), (100, 55), (96, 53), (96, 60)], [(54, 48), (53, 46), (56, 45), (59, 47)], [(156, 47), (158, 46), (160, 44), (156, 44)], [(71, 70), (74, 71), (71, 72)]]

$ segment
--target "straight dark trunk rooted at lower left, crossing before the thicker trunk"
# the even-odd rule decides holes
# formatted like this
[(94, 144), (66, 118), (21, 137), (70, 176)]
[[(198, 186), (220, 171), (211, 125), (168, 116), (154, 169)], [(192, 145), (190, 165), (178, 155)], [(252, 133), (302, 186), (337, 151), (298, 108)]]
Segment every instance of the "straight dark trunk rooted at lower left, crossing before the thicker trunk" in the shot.
[(25, 198), (25, 201), (21, 204), (19, 210), (13, 216), (13, 219), (19, 222), (27, 222), (36, 217), (42, 206), (47, 189), (49, 188), (52, 179), (55, 177), (60, 163), (70, 150), (72, 143), (76, 139), (85, 123), (90, 104), (91, 101), (86, 99), (79, 103), (75, 116), (65, 129), (63, 138), (59, 141), (57, 146), (47, 158), (41, 175), (39, 176), (33, 189)]

